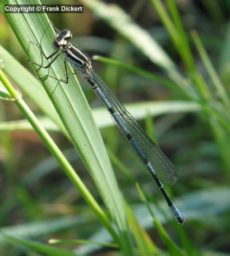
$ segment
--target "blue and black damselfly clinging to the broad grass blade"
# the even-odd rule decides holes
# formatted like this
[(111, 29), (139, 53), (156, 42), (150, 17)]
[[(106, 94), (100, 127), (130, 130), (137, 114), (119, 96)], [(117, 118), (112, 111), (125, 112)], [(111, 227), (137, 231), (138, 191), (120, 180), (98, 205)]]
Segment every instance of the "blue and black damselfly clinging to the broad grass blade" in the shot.
[[(57, 29), (56, 29), (57, 30)], [(58, 31), (58, 30), (57, 30)], [(130, 148), (137, 155), (139, 160), (144, 164), (146, 169), (153, 176), (158, 188), (165, 197), (176, 221), (183, 224), (184, 218), (177, 207), (173, 204), (169, 195), (164, 189), (161, 182), (167, 185), (174, 185), (177, 181), (177, 174), (173, 163), (165, 156), (165, 154), (157, 147), (157, 145), (149, 138), (144, 130), (139, 126), (132, 115), (119, 102), (114, 93), (100, 78), (100, 76), (92, 68), (90, 60), (79, 49), (75, 48), (68, 40), (72, 34), (68, 30), (58, 31), (54, 38), (55, 52), (46, 57), (49, 60), (54, 59), (46, 66), (36, 64), (40, 67), (48, 68), (61, 54), (64, 56), (64, 67), (66, 80), (57, 79), (58, 81), (68, 83), (68, 74), (66, 69), (66, 61), (69, 62), (75, 70), (80, 71), (86, 79), (86, 83), (93, 92), (101, 99), (106, 106), (115, 125), (127, 141)], [(44, 77), (52, 77), (46, 75)], [(44, 78), (42, 77), (42, 78)], [(41, 79), (41, 78), (40, 78)]]

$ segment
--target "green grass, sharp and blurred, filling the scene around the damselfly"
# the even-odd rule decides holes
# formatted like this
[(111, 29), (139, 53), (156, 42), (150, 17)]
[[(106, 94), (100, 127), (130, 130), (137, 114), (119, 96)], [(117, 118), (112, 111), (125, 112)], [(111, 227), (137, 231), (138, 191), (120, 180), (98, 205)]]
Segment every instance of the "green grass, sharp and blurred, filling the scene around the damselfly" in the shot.
[[(141, 2), (134, 3), (130, 13), (99, 0), (82, 2), (87, 15), (97, 17), (106, 23), (108, 32), (115, 33), (108, 58), (92, 58), (95, 69), (104, 71), (102, 76), (123, 100), (137, 99), (125, 107), (171, 155), (181, 182), (166, 189), (172, 197), (176, 195), (173, 201), (186, 222), (180, 227), (173, 221), (154, 182), (117, 135), (106, 109), (90, 109), (88, 101), (95, 106), (94, 97), (86, 89), (86, 100), (78, 76), (70, 76), (68, 85), (57, 86), (56, 80), (39, 81), (29, 71), (26, 59), (46, 64), (30, 42), (42, 46), (47, 56), (54, 51), (55, 32), (46, 14), (3, 14), (7, 24), (0, 25), (4, 44), (0, 46), (0, 98), (5, 99), (0, 102), (0, 149), (7, 182), (3, 183), (5, 200), (0, 207), (0, 253), (5, 254), (10, 244), (12, 255), (14, 248), (18, 250), (15, 255), (29, 255), (25, 247), (34, 255), (74, 255), (71, 250), (75, 244), (82, 244), (82, 252), (88, 255), (96, 254), (97, 248), (104, 248), (108, 255), (222, 255), (219, 251), (224, 251), (222, 247), (229, 249), (230, 239), (230, 30), (226, 29), (224, 47), (215, 49), (220, 51), (218, 63), (209, 54), (211, 50), (205, 49), (199, 36), (202, 33), (196, 32), (197, 28), (188, 30), (181, 16), (182, 7), (174, 0), (148, 2), (155, 13), (151, 19), (164, 30), (168, 42), (164, 48), (156, 40), (157, 33), (152, 35), (138, 25), (134, 14), (142, 12)], [(215, 26), (227, 27), (218, 1), (203, 6)], [(191, 9), (196, 8), (193, 5)], [(60, 29), (78, 24), (77, 37), (78, 29), (92, 29), (87, 25), (87, 15), (76, 16), (74, 25), (68, 15), (60, 15), (66, 23), (54, 16)], [(8, 26), (15, 35), (13, 40), (7, 33)], [(218, 40), (217, 33), (214, 36)], [(100, 48), (108, 49), (100, 43), (95, 45), (95, 49)], [(102, 64), (97, 65), (99, 62)], [(33, 68), (37, 77), (47, 74), (46, 69)], [(72, 73), (70, 65), (67, 69)], [(49, 72), (58, 79), (64, 78), (61, 58)], [(22, 98), (17, 97), (16, 88)], [(15, 97), (16, 100), (9, 100)], [(42, 153), (34, 147), (29, 153), (22, 149), (20, 155), (12, 134), (34, 134), (33, 131), (41, 139)], [(71, 147), (75, 150), (66, 150)], [(63, 172), (57, 172), (57, 168)], [(53, 175), (62, 175), (61, 180), (56, 178), (53, 182)], [(141, 188), (136, 190), (137, 181)], [(223, 239), (220, 241), (218, 236)], [(55, 245), (47, 245), (47, 241)]]

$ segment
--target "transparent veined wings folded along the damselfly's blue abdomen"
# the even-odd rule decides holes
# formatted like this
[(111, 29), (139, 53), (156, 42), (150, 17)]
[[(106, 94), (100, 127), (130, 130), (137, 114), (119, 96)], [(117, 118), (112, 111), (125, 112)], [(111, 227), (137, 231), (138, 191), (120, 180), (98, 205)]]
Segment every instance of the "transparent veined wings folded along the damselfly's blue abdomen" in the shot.
[[(119, 102), (115, 94), (110, 90), (110, 88), (105, 84), (100, 76), (93, 69), (90, 69), (89, 73), (93, 77), (95, 83), (100, 88), (106, 99), (110, 102), (111, 106), (113, 107), (119, 118), (122, 120), (125, 127), (129, 130), (132, 137), (136, 140), (146, 159), (150, 162), (154, 171), (156, 172), (157, 178), (167, 185), (174, 185), (178, 180), (178, 177), (171, 160), (169, 160), (166, 155), (158, 148), (158, 146), (150, 139), (150, 137), (140, 127), (134, 117)], [(140, 158), (135, 148), (128, 141), (123, 130), (117, 125), (113, 116), (110, 116), (113, 119), (117, 128), (119, 129), (120, 133), (126, 140), (129, 147), (134, 151), (139, 160), (144, 164), (143, 160)]]

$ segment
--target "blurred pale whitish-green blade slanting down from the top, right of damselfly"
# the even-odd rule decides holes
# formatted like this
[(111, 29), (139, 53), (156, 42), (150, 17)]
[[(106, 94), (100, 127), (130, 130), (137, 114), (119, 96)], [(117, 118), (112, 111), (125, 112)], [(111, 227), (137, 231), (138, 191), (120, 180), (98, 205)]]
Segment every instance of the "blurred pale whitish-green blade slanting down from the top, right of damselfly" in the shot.
[(179, 73), (175, 64), (150, 34), (135, 24), (131, 17), (113, 4), (99, 0), (82, 0), (82, 2), (100, 19), (115, 31), (123, 35), (153, 64), (160, 66), (175, 84), (188, 96), (197, 98), (195, 91)]

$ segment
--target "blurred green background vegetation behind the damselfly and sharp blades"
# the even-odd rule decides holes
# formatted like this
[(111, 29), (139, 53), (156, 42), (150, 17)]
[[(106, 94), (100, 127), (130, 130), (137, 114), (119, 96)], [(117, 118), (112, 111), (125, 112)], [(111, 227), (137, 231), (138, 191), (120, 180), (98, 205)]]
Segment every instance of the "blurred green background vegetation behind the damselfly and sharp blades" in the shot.
[[(137, 73), (122, 64), (103, 63), (100, 58), (92, 61), (94, 69), (115, 95), (122, 103), (127, 103), (130, 113), (172, 160), (179, 181), (173, 187), (167, 186), (167, 191), (175, 198), (186, 219), (183, 229), (172, 222), (154, 181), (113, 126), (106, 110), (99, 112), (99, 107), (103, 107), (101, 102), (80, 78), (87, 101), (97, 118), (96, 123), (121, 192), (138, 223), (161, 250), (159, 255), (167, 255), (166, 246), (140, 201), (135, 182), (142, 186), (149, 202), (154, 203), (157, 219), (165, 225), (168, 234), (186, 255), (229, 255), (230, 1), (176, 0), (178, 13), (173, 10), (171, 0), (160, 3), (155, 0), (103, 1), (106, 8), (118, 6), (115, 7), (119, 10), (115, 9), (117, 16), (114, 20), (112, 16), (111, 20), (103, 16), (106, 8), (101, 9), (101, 13), (102, 7), (95, 7), (92, 2), (77, 2), (84, 4), (83, 14), (48, 14), (48, 17), (56, 28), (69, 29), (73, 34), (73, 45), (89, 57), (100, 55), (149, 72), (143, 74), (139, 70)], [(123, 12), (132, 18), (136, 31), (133, 29), (128, 33), (125, 27), (119, 26), (119, 15), (123, 19)], [(146, 38), (141, 32), (150, 35), (163, 48), (166, 57), (173, 63), (172, 69), (170, 65), (164, 65), (164, 61), (157, 61), (157, 52), (149, 54), (150, 43), (144, 41)], [(1, 14), (0, 45), (34, 74)], [(44, 118), (31, 98), (25, 95), (24, 100), (36, 116)], [(16, 120), (18, 123), (10, 122)], [(13, 236), (33, 238), (44, 243), (51, 238), (111, 242), (85, 201), (60, 170), (57, 161), (23, 120), (23, 115), (14, 104), (0, 101), (2, 230)], [(44, 124), (49, 129), (47, 119)], [(102, 204), (72, 144), (52, 125), (49, 130), (63, 154), (78, 170), (86, 187)], [(69, 250), (78, 248), (76, 244), (60, 246)], [(88, 255), (118, 254), (111, 248), (92, 245), (82, 245), (78, 250)], [(2, 242), (0, 255), (39, 254)]]

